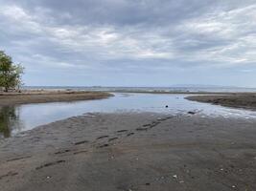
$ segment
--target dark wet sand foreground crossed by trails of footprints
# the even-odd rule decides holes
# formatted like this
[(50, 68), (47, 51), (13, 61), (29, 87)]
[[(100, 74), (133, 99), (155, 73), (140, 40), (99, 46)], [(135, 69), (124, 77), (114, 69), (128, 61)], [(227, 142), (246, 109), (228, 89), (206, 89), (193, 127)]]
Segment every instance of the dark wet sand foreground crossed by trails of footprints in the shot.
[(3, 191), (256, 190), (256, 120), (88, 114), (0, 143)]

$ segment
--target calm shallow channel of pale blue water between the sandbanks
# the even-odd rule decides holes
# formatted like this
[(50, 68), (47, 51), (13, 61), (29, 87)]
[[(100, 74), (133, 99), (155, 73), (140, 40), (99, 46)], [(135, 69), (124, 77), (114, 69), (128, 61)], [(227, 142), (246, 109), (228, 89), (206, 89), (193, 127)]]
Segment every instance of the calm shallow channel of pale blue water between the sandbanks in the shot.
[[(166, 105), (169, 107), (165, 108)], [(189, 101), (184, 99), (184, 95), (115, 94), (113, 97), (102, 100), (3, 107), (0, 109), (0, 137), (9, 138), (38, 125), (86, 113), (156, 112), (176, 114), (195, 110), (201, 116), (256, 118), (256, 112)]]

